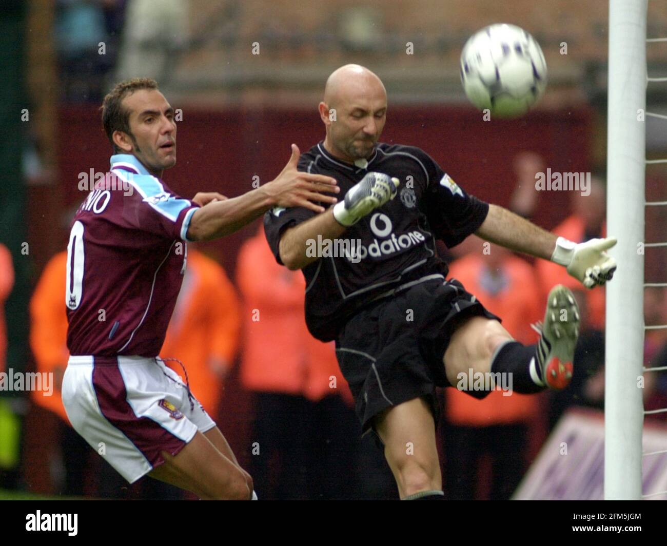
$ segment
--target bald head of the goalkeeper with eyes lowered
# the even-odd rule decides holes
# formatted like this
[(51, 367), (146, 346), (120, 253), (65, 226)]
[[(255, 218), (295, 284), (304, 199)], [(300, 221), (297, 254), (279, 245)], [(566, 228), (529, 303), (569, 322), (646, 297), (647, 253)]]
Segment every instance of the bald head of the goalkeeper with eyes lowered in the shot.
[(368, 68), (344, 65), (334, 70), (319, 103), (326, 126), (325, 148), (346, 162), (369, 158), (380, 139), (387, 111), (387, 91)]

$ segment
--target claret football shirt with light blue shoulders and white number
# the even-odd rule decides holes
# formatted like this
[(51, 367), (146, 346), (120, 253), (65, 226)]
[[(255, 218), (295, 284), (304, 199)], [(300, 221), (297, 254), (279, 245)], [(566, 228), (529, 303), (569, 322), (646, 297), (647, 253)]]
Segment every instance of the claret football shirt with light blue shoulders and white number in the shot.
[(157, 356), (197, 208), (134, 156), (111, 157), (111, 169), (77, 210), (67, 245), (70, 354)]

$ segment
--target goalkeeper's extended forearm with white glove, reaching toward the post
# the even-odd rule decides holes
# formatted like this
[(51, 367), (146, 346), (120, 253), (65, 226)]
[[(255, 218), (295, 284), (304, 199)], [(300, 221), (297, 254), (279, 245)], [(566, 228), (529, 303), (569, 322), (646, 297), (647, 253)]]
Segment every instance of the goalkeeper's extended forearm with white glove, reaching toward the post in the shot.
[(475, 232), (482, 239), (510, 250), (524, 252), (565, 266), (586, 288), (611, 280), (616, 261), (605, 250), (616, 238), (591, 239), (580, 244), (558, 237), (498, 205), (490, 205), (482, 226)]

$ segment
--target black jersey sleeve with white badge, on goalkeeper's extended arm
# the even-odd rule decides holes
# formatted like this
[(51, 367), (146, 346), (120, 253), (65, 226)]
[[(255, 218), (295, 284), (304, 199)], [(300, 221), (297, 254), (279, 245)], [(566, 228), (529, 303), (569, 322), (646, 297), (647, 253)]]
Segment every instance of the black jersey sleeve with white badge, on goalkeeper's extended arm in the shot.
[(421, 208), (436, 237), (452, 248), (480, 228), (489, 205), (467, 194), (428, 154), (420, 152), (428, 179)]

